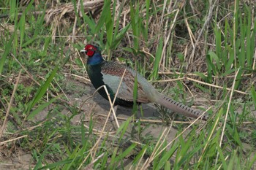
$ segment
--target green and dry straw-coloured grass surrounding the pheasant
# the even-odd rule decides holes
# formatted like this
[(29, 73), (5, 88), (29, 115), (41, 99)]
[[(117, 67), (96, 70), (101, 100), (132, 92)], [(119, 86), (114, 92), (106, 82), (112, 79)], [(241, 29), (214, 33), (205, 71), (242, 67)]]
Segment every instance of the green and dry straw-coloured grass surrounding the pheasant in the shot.
[[(4, 29), (0, 30), (1, 117), (7, 112), (20, 69), (23, 77), (12, 98), (7, 130), (1, 138), (4, 151), (15, 147), (28, 152), (33, 156), (31, 169), (125, 169), (127, 161), (129, 169), (255, 167), (255, 117), (251, 112), (252, 107), (256, 108), (256, 20), (252, 5), (219, 2), (212, 14), (214, 19), (203, 31), (205, 36), (195, 43), (204, 18), (208, 17), (208, 1), (195, 5), (192, 1), (181, 4), (105, 0), (99, 8), (94, 7), (100, 2), (83, 6), (84, 1), (80, 1), (74, 7), (77, 2), (1, 2), (7, 7), (0, 9), (1, 14), (9, 15), (1, 18)], [(73, 5), (72, 12), (67, 12), (69, 5)], [(49, 9), (55, 8), (67, 11), (50, 16)], [(56, 19), (60, 15), (61, 20)], [(75, 17), (78, 36), (72, 35), (70, 29)], [(46, 23), (45, 18), (53, 22)], [(53, 32), (53, 28), (58, 29)], [(59, 37), (53, 41), (52, 35)], [(66, 35), (75, 37), (75, 44)], [(211, 102), (194, 99), (202, 105), (215, 105), (212, 118), (205, 124), (189, 125), (171, 120), (170, 126), (163, 126), (152, 136), (147, 130), (158, 125), (152, 125), (151, 120), (145, 123), (143, 118), (131, 114), (113, 133), (101, 131), (102, 117), (95, 118), (92, 105), (80, 109), (74, 99), (82, 98), (84, 88), (78, 89), (78, 84), (72, 88), (67, 77), (86, 75), (83, 69), (78, 69), (82, 68), (83, 60), (78, 60), (78, 53), (72, 50), (82, 49), (83, 41), (97, 44), (107, 60), (126, 61), (138, 74), (158, 81), (155, 85), (165, 89), (163, 93), (173, 93), (178, 100), (186, 102), (187, 98), (181, 95), (190, 94), (197, 94), (195, 98), (206, 96), (209, 101), (214, 98)], [(197, 50), (191, 56), (195, 44)], [(178, 82), (173, 82), (176, 78)], [(134, 101), (138, 96), (136, 81)], [(70, 98), (68, 93), (74, 96)], [(133, 112), (137, 110), (135, 104)], [(45, 112), (47, 116), (37, 120)], [(147, 110), (140, 107), (140, 112), (146, 115)], [(83, 115), (80, 122), (72, 124), (78, 115)], [(167, 124), (160, 120), (157, 123)], [(168, 139), (170, 133), (176, 135)], [(22, 138), (16, 139), (18, 136)]]

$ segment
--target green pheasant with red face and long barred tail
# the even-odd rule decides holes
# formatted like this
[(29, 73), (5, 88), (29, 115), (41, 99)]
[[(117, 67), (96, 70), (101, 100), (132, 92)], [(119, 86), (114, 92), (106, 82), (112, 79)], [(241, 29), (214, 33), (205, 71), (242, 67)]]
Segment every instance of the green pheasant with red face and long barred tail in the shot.
[[(86, 70), (94, 88), (99, 88), (102, 85), (106, 85), (110, 98), (116, 95), (121, 77), (124, 74), (124, 78), (121, 82), (121, 86), (116, 96), (115, 106), (120, 105), (123, 107), (133, 106), (133, 88), (135, 82), (136, 72), (129, 67), (122, 66), (116, 62), (108, 62), (102, 58), (101, 52), (98, 47), (94, 45), (86, 45), (84, 50), (80, 50), (80, 53), (86, 53), (88, 55)], [(171, 109), (173, 112), (178, 112), (181, 115), (187, 117), (199, 117), (201, 113), (195, 109), (185, 106), (178, 101), (164, 96), (159, 93), (144, 77), (137, 74), (138, 79), (138, 104), (157, 103), (163, 107)], [(108, 96), (105, 93), (104, 88), (101, 88), (99, 94), (108, 100)], [(207, 120), (208, 116), (203, 115), (203, 120)]]

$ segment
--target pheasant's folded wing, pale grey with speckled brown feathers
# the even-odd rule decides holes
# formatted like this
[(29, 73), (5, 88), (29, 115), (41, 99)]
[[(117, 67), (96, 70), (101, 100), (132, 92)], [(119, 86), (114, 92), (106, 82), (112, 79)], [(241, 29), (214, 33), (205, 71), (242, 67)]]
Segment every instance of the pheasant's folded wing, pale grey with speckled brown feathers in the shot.
[[(121, 82), (120, 88), (118, 90), (117, 98), (121, 98), (125, 101), (133, 101), (133, 88), (135, 83), (135, 73), (131, 72), (129, 69), (126, 69), (125, 66), (120, 65), (115, 62), (105, 62), (102, 65), (102, 75), (103, 82), (105, 85), (108, 85), (113, 93), (116, 93), (118, 86), (121, 81), (121, 77), (124, 74), (124, 78)], [(138, 82), (138, 98), (137, 102), (148, 103), (148, 97), (146, 96), (143, 86)]]

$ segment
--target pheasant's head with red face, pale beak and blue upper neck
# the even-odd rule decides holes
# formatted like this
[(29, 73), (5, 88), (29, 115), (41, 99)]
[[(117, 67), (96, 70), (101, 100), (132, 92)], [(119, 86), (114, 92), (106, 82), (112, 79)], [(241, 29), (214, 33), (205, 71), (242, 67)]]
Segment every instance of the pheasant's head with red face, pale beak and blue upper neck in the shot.
[(89, 56), (87, 61), (89, 65), (96, 65), (104, 61), (100, 53), (99, 47), (96, 47), (94, 45), (86, 45), (86, 47), (84, 47), (84, 50), (80, 50), (80, 53), (86, 53), (86, 55)]

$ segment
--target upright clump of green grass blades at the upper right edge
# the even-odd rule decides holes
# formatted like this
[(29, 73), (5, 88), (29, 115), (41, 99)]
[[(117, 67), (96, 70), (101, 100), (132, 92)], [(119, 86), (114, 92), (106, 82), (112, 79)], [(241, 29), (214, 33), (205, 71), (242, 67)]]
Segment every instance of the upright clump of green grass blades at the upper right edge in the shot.
[[(225, 20), (224, 28), (220, 28), (216, 24), (214, 26), (216, 52), (209, 51), (206, 58), (208, 82), (211, 82), (212, 75), (226, 76), (241, 67), (242, 72), (238, 73), (238, 81), (235, 86), (237, 89), (241, 85), (241, 75), (253, 70), (252, 54), (255, 49), (256, 21), (252, 24), (249, 7), (244, 5), (242, 9), (238, 8), (236, 12), (237, 18), (235, 17), (233, 28), (228, 20)], [(241, 15), (242, 12), (244, 15)], [(251, 26), (253, 26), (252, 30)]]

